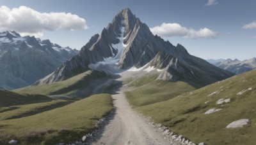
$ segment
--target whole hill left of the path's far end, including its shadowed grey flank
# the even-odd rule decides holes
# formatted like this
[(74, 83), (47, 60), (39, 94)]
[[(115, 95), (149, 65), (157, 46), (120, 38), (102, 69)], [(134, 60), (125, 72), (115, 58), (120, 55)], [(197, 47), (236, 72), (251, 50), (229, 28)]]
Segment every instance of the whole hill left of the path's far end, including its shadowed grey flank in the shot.
[(84, 98), (95, 93), (108, 93), (115, 85), (121, 85), (114, 79), (116, 76), (99, 71), (86, 71), (64, 81), (54, 83), (28, 86), (15, 90), (18, 93), (38, 93), (41, 95), (51, 95), (54, 98)]

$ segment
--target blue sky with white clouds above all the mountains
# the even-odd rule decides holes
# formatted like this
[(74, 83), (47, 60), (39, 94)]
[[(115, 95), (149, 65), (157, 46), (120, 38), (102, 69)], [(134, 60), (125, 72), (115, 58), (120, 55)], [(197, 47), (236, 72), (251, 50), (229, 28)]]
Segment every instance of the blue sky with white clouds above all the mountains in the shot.
[(1, 0), (0, 31), (80, 49), (128, 7), (173, 45), (202, 59), (256, 57), (254, 0)]

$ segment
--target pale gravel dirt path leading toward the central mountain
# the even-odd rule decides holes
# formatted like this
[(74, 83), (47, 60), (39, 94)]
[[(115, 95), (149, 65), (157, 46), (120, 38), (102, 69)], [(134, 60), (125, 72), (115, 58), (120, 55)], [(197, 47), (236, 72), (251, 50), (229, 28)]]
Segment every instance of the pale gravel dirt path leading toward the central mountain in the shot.
[(122, 90), (112, 97), (116, 113), (104, 127), (100, 138), (92, 144), (170, 144), (138, 113), (132, 111)]

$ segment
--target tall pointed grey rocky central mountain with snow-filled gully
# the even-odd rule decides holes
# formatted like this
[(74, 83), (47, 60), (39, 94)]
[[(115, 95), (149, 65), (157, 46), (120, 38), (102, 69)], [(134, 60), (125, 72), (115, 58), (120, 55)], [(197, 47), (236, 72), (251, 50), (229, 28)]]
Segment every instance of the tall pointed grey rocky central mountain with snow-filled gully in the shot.
[[(153, 60), (154, 63), (150, 64)], [(163, 65), (154, 66), (156, 61), (163, 62)], [(158, 79), (168, 81), (182, 79), (207, 85), (233, 75), (190, 55), (182, 45), (173, 46), (169, 41), (154, 36), (146, 24), (125, 8), (101, 34), (92, 36), (79, 55), (35, 85), (68, 79), (89, 69), (118, 74), (131, 67), (148, 65), (163, 69)]]

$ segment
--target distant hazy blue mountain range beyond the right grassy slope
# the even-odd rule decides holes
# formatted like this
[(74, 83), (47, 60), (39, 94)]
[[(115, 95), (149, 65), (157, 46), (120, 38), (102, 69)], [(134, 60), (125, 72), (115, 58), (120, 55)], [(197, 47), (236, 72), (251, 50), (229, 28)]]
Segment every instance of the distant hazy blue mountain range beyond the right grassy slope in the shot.
[(238, 59), (227, 59), (223, 62), (214, 63), (215, 66), (225, 69), (227, 71), (233, 72), (235, 74), (241, 74), (246, 71), (252, 71), (256, 69), (256, 58), (253, 57), (249, 60), (238, 60)]

